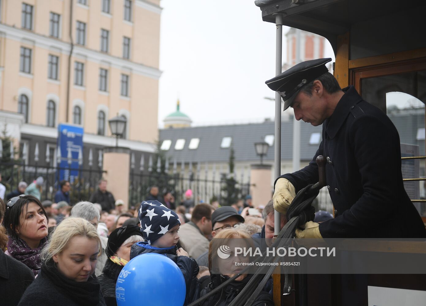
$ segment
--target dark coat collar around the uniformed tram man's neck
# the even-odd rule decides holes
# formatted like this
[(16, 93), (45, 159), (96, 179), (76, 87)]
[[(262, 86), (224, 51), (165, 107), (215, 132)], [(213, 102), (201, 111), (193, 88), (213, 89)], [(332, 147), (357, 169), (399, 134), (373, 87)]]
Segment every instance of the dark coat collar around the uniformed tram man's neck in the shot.
[(345, 94), (337, 103), (336, 109), (327, 120), (325, 120), (325, 134), (326, 137), (332, 139), (339, 132), (340, 127), (348, 117), (351, 106), (359, 103), (363, 98), (357, 93), (354, 86), (348, 86), (342, 89)]

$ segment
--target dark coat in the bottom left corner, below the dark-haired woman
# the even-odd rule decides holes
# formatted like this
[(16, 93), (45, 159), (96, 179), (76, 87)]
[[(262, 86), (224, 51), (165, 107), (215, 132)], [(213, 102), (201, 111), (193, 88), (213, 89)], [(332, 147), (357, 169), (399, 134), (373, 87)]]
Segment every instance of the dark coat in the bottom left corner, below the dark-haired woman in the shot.
[(29, 267), (0, 250), (0, 297), (2, 305), (16, 306), (25, 289), (33, 280), (34, 275)]

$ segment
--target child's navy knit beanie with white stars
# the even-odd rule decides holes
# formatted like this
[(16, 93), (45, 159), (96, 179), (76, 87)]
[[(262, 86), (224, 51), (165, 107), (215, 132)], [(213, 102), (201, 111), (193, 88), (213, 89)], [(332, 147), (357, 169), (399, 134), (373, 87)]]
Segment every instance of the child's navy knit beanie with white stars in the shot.
[(141, 232), (151, 245), (167, 233), (173, 226), (181, 224), (179, 216), (173, 210), (155, 201), (143, 201), (139, 208)]

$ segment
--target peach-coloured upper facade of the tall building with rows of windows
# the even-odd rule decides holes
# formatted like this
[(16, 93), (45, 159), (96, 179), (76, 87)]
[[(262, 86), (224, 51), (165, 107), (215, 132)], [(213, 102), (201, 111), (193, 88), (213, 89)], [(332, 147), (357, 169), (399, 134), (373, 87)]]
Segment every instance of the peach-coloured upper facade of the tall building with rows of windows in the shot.
[(29, 152), (40, 137), (54, 153), (58, 123), (71, 123), (83, 126), (85, 148), (100, 148), (115, 144), (108, 119), (119, 114), (120, 145), (154, 152), (159, 4), (0, 0), (0, 128), (7, 123)]

